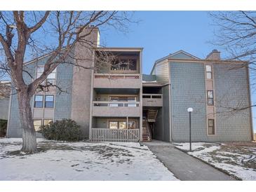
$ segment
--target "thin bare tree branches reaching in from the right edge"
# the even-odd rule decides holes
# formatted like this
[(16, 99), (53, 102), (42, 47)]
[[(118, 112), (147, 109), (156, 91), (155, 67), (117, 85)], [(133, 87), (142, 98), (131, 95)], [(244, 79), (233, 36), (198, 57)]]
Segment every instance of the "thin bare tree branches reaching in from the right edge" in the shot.
[[(232, 65), (229, 70), (249, 68), (250, 86), (254, 92), (256, 85), (256, 11), (215, 11), (210, 12), (210, 17), (213, 18), (213, 25), (216, 27), (215, 39), (210, 43), (225, 50), (227, 60), (248, 61), (248, 63), (237, 64), (236, 67)], [(231, 97), (228, 96), (229, 102)], [(256, 104), (245, 104), (243, 98), (236, 98), (236, 100), (237, 104), (227, 105), (229, 102), (225, 99), (218, 101), (217, 104), (231, 114), (256, 107)]]

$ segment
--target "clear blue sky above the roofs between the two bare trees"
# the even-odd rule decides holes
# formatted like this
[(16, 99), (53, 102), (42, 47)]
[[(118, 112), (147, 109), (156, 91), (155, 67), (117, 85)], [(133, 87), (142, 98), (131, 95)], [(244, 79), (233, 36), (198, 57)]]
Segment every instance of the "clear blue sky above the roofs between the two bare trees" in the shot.
[[(130, 25), (128, 34), (109, 29), (100, 33), (100, 39), (104, 46), (144, 48), (144, 74), (150, 73), (155, 60), (177, 50), (205, 58), (215, 48), (208, 43), (215, 28), (206, 11), (137, 11), (134, 18), (141, 22)], [(254, 94), (252, 102), (255, 100)], [(256, 109), (253, 114), (256, 132)]]

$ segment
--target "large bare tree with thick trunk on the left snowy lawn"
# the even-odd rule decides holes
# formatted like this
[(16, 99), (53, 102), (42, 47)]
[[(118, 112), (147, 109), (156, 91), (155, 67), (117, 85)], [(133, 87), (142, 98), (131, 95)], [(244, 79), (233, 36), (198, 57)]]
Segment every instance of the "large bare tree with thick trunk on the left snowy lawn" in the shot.
[[(4, 50), (5, 55), (1, 58), (1, 71), (11, 76), (18, 95), (22, 151), (36, 151), (36, 135), (29, 104), (36, 89), (59, 64), (68, 63), (80, 67), (78, 61), (84, 58), (74, 55), (72, 50), (77, 43), (83, 43), (93, 51), (95, 46), (86, 40), (86, 36), (94, 29), (110, 26), (125, 31), (129, 22), (130, 13), (118, 11), (0, 12), (0, 50)], [(42, 55), (48, 55), (43, 73), (33, 78), (26, 70), (25, 61), (36, 60)], [(31, 83), (25, 83), (24, 74), (31, 77)]]

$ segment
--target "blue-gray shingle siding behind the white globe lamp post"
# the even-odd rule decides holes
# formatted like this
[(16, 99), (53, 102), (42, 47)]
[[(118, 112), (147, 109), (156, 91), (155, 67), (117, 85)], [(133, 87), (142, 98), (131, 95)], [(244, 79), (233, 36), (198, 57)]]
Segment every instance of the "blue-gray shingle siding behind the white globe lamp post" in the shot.
[(172, 85), (173, 141), (188, 141), (189, 114), (192, 107), (191, 138), (206, 141), (206, 85), (204, 66), (200, 63), (170, 63)]

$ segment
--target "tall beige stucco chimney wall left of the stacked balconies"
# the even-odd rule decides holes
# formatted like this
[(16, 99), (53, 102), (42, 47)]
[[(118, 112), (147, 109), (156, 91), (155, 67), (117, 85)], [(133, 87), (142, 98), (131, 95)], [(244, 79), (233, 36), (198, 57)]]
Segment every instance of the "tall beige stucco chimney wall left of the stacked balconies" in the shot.
[[(97, 29), (94, 29), (89, 36), (86, 36), (86, 40), (90, 41), (92, 46), (97, 45), (97, 34)], [(74, 48), (74, 55), (75, 57), (79, 57), (79, 59), (81, 59), (77, 61), (77, 64), (80, 66), (93, 67), (94, 54), (93, 51), (88, 48), (88, 45), (85, 45), (84, 43), (77, 43), (76, 47)], [(93, 71), (91, 69), (74, 67), (71, 118), (81, 126), (83, 135), (86, 138), (89, 137), (92, 76)]]

